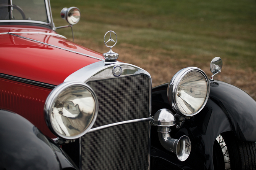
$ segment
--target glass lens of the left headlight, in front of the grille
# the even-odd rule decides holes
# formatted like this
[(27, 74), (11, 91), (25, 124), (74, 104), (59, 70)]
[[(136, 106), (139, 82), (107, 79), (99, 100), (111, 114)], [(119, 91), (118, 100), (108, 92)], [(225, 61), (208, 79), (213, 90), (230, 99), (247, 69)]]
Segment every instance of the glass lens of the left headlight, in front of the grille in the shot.
[(52, 107), (52, 125), (67, 137), (78, 135), (91, 124), (95, 107), (91, 92), (84, 87), (69, 87), (58, 95)]

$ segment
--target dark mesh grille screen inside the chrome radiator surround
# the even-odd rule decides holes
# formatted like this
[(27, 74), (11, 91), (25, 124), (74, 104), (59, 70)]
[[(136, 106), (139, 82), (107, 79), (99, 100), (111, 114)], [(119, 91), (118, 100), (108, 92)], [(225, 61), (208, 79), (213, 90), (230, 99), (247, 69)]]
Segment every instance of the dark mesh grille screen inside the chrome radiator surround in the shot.
[[(87, 83), (99, 110), (94, 127), (149, 117), (149, 78), (128, 76)], [(82, 170), (148, 168), (149, 122), (136, 122), (81, 137)]]

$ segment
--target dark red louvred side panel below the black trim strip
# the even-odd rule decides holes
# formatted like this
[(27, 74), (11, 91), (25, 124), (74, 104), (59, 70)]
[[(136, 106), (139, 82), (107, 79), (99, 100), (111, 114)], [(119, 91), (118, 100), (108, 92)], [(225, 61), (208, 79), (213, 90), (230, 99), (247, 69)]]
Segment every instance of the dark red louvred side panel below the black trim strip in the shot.
[(0, 108), (28, 119), (48, 137), (55, 138), (44, 120), (44, 104), (51, 90), (0, 78)]

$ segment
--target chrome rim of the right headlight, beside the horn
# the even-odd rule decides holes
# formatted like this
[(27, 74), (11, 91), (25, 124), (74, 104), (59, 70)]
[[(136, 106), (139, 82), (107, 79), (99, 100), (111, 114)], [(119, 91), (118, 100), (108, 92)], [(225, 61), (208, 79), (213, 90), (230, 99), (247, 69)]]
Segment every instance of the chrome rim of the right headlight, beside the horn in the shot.
[[(177, 93), (177, 90), (178, 90), (178, 85), (181, 81), (181, 79), (188, 73), (190, 73), (191, 71), (198, 71), (199, 73), (201, 73), (204, 78), (206, 79), (206, 83), (207, 83), (207, 95), (206, 95), (206, 99), (203, 103), (203, 105), (196, 111), (194, 112), (193, 114), (184, 114), (182, 113), (179, 109), (178, 109), (178, 106), (176, 104), (176, 93)], [(173, 95), (174, 94), (174, 95)], [(181, 116), (186, 116), (186, 117), (191, 117), (191, 116), (194, 116), (196, 114), (198, 114), (203, 108), (204, 106), (206, 105), (207, 103), (207, 100), (209, 99), (209, 95), (210, 95), (210, 83), (209, 83), (209, 79), (206, 75), (206, 73), (204, 73), (203, 70), (201, 70), (200, 68), (198, 67), (187, 67), (187, 68), (183, 68), (181, 70), (179, 70), (171, 79), (171, 81), (169, 82), (168, 84), (168, 88), (167, 88), (167, 97), (168, 97), (168, 100), (169, 100), (169, 103), (170, 105), (172, 106), (172, 109), (180, 114)]]

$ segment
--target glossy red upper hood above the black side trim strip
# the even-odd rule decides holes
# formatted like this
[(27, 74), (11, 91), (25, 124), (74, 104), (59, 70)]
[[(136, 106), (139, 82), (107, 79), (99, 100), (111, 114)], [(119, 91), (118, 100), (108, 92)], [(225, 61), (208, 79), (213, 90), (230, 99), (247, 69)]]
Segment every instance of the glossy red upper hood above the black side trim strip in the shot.
[[(56, 33), (51, 29), (28, 26), (0, 26), (1, 32)], [(104, 59), (99, 52), (92, 51), (65, 38), (39, 33), (15, 34)], [(14, 35), (0, 34), (0, 61), (0, 73), (58, 85), (76, 70), (100, 60)]]

